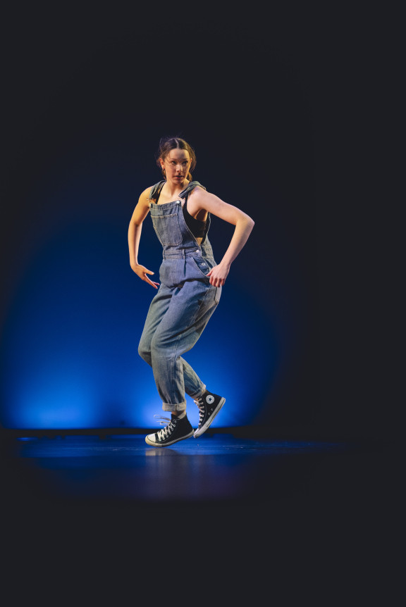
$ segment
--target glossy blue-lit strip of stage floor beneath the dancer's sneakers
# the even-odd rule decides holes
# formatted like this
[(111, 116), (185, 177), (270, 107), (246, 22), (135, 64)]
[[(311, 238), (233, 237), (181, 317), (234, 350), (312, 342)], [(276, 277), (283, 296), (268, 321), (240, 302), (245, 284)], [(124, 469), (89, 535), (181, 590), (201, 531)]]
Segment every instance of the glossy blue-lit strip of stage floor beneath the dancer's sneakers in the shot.
[(366, 499), (388, 493), (379, 442), (283, 441), (204, 434), (156, 449), (143, 434), (14, 438), (8, 442), (16, 494), (103, 503), (228, 503)]

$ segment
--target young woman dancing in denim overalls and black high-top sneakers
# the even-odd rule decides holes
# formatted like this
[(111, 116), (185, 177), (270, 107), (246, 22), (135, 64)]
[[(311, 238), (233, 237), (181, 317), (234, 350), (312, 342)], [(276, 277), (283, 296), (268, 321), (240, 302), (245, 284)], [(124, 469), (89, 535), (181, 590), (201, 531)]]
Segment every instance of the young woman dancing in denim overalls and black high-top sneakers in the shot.
[[(163, 418), (167, 425), (145, 438), (147, 444), (162, 447), (203, 434), (226, 401), (209, 392), (183, 354), (195, 345), (216, 309), (230, 265), (247, 242), (254, 221), (192, 180), (195, 151), (183, 139), (161, 139), (156, 163), (164, 180), (142, 192), (130, 220), (128, 246), (135, 274), (158, 290), (149, 306), (138, 352), (152, 366), (162, 408), (171, 411), (170, 420)], [(161, 284), (151, 280), (154, 272), (138, 262), (142, 222), (149, 212), (164, 248)], [(210, 214), (235, 225), (218, 265), (207, 237)], [(186, 416), (185, 394), (199, 407), (195, 432)]]

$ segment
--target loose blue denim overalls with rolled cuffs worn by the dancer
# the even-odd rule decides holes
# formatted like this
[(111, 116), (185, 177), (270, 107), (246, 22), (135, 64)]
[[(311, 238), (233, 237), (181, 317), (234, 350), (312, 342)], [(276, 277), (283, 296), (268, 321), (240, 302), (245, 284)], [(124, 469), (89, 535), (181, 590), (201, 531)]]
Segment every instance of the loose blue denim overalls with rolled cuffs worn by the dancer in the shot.
[(203, 186), (192, 181), (175, 201), (154, 204), (154, 196), (164, 183), (155, 184), (149, 194), (152, 223), (164, 248), (164, 260), (159, 268), (161, 284), (149, 306), (138, 353), (152, 366), (164, 411), (184, 411), (185, 394), (197, 399), (206, 386), (182, 355), (202, 334), (219, 303), (221, 287), (212, 286), (206, 276), (216, 265), (207, 238), (210, 215), (200, 245), (183, 218), (182, 199), (196, 186)]

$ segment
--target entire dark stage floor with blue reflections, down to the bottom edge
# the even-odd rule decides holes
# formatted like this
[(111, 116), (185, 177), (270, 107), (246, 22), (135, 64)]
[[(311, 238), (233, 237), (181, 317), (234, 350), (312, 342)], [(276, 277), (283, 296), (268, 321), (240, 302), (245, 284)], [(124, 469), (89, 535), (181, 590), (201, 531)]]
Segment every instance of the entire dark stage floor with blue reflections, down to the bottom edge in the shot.
[(135, 593), (169, 572), (196, 592), (214, 562), (227, 596), (248, 601), (252, 584), (268, 592), (270, 576), (285, 596), (294, 577), (300, 596), (301, 584), (313, 596), (324, 580), (321, 604), (333, 605), (349, 568), (362, 592), (377, 563), (384, 579), (398, 534), (399, 482), (384, 443), (207, 432), (165, 449), (140, 434), (13, 437), (2, 449), (2, 549), (13, 592), (30, 576), (28, 596), (44, 577), (66, 589), (91, 570), (92, 596), (113, 570)]

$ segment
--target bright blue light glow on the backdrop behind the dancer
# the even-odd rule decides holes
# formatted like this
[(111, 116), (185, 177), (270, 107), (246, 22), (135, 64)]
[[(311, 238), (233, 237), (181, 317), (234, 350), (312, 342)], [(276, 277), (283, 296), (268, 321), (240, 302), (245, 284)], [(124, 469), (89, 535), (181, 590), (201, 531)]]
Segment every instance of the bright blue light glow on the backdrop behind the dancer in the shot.
[[(154, 291), (131, 273), (125, 229), (66, 227), (27, 269), (2, 343), (5, 427), (155, 427), (154, 414), (169, 416), (137, 353)], [(238, 282), (229, 278), (219, 308), (185, 354), (207, 387), (226, 397), (214, 427), (249, 424), (278, 366), (269, 315)], [(187, 402), (196, 427), (197, 407)]]

